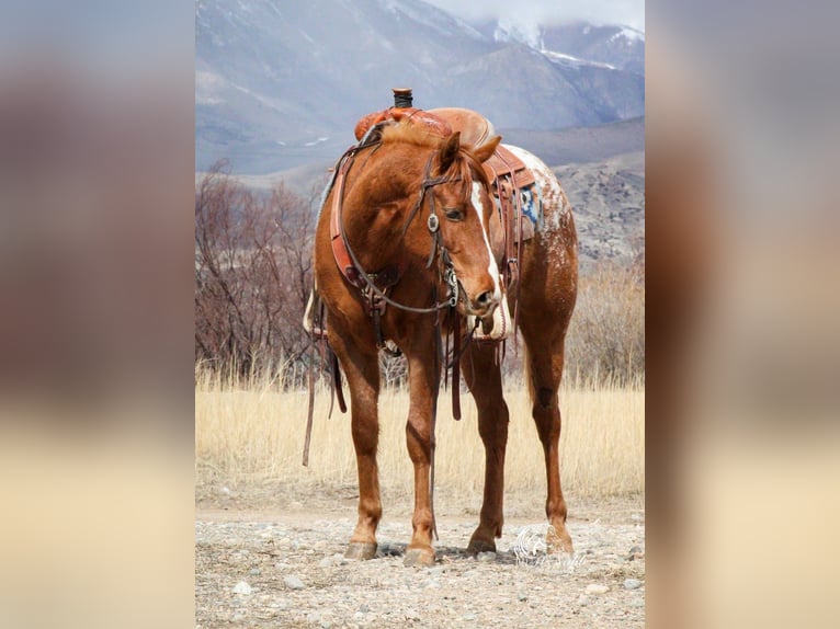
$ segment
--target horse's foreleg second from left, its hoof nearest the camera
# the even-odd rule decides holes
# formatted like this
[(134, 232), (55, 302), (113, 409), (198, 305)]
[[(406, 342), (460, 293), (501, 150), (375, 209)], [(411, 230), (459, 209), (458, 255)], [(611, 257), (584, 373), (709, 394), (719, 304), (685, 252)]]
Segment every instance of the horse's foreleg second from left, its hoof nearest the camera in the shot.
[(411, 401), (406, 423), (406, 445), (415, 466), (415, 513), (411, 542), (406, 549), (406, 565), (431, 565), (434, 563), (432, 530), (431, 465), (434, 447), (432, 412), (438, 398), (438, 378), (433, 355), (427, 343), (422, 356), (407, 356)]

